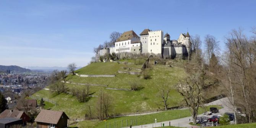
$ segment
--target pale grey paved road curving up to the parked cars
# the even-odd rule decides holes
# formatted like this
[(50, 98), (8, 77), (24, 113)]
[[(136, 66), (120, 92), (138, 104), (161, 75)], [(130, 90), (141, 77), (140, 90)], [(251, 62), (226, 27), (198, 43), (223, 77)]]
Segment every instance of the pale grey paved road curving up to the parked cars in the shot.
[[(219, 100), (215, 100), (213, 102), (210, 102), (207, 105), (222, 105), (222, 109), (219, 110), (219, 113), (214, 113), (213, 115), (223, 115), (225, 112), (233, 112), (232, 111), (232, 105), (228, 104), (228, 98), (222, 98)], [(198, 117), (212, 117), (212, 115), (198, 115)], [(139, 125), (139, 126), (132, 126), (132, 128), (155, 128), (160, 127), (161, 124), (165, 124), (165, 126), (169, 126), (169, 123), (171, 126), (179, 126), (179, 127), (185, 127), (185, 128), (192, 128), (192, 125), (189, 125), (188, 123), (190, 123), (190, 120), (192, 121), (192, 117), (185, 117), (185, 118), (180, 118), (180, 119), (176, 119), (176, 120), (169, 120), (169, 121), (165, 121), (165, 122), (158, 122), (158, 123), (151, 123), (151, 124), (147, 124), (147, 125)]]

